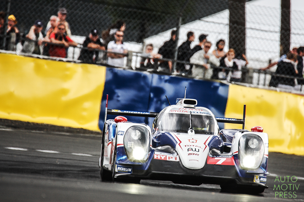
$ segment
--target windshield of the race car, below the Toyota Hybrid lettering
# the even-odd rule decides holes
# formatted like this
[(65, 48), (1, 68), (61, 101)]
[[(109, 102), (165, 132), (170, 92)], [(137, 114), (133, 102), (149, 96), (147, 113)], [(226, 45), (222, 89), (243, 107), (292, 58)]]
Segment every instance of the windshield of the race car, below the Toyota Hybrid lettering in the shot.
[[(195, 134), (214, 134), (214, 119), (208, 115), (192, 114), (192, 127)], [(190, 114), (164, 113), (158, 118), (159, 131), (187, 133), (190, 127)]]

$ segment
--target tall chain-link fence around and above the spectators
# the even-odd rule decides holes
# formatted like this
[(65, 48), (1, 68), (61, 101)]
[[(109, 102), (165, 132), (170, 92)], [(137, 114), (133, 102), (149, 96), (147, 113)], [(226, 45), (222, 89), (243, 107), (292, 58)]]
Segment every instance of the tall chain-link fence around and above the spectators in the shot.
[[(238, 4), (238, 2), (243, 3)], [(283, 49), (282, 39), (280, 39), (282, 35), (281, 29), (282, 27), (287, 27), (288, 30), (288, 26), (282, 26), (281, 24), (283, 22), (281, 20), (281, 8), (259, 6), (251, 2), (254, 1), (246, 1), (245, 4), (245, 0), (1, 0), (0, 5), (2, 8), (0, 10), (6, 12), (5, 18), (9, 15), (14, 15), (16, 21), (18, 21), (16, 26), (19, 29), (20, 38), (17, 36), (16, 44), (11, 48), (13, 51), (22, 50), (20, 43), (19, 46), (17, 43), (22, 40), (24, 43), (25, 35), (23, 33), (27, 33), (37, 19), (43, 22), (42, 33), (44, 33), (50, 17), (52, 15), (57, 16), (59, 8), (66, 8), (66, 21), (69, 23), (71, 30), (71, 39), (77, 42), (78, 45), (70, 44), (71, 47), (68, 49), (64, 48), (64, 45), (59, 45), (67, 51), (66, 56), (63, 57), (66, 59), (62, 60), (77, 61), (81, 48), (92, 52), (92, 48), (90, 49), (88, 46), (82, 47), (85, 37), (88, 37), (90, 31), (95, 28), (101, 36), (103, 31), (106, 31), (120, 19), (126, 25), (123, 31), (123, 39), (126, 49), (129, 51), (128, 53), (122, 52), (120, 55), (126, 56), (124, 57), (124, 65), (127, 67), (140, 69), (142, 64), (147, 63), (145, 61), (146, 58), (155, 56), (153, 54), (142, 54), (145, 52), (146, 46), (152, 44), (153, 52), (157, 53), (164, 42), (171, 38), (171, 31), (177, 30), (177, 40), (172, 44), (172, 57), (158, 58), (158, 60), (154, 58), (155, 61), (153, 61), (153, 67), (157, 70), (158, 65), (164, 62), (168, 63), (171, 60), (173, 61), (171, 73), (174, 70), (176, 72), (178, 63), (175, 61), (176, 59), (180, 60), (178, 59), (178, 47), (184, 41), (187, 41), (187, 33), (192, 31), (195, 39), (190, 45), (191, 48), (199, 44), (199, 36), (201, 34), (206, 34), (208, 35), (207, 40), (211, 42), (211, 48), (209, 49), (211, 54), (216, 49), (216, 42), (219, 39), (223, 39), (225, 41), (223, 51), (227, 52), (229, 48), (234, 48), (237, 59), (244, 60), (241, 56), (242, 53), (247, 57), (248, 64), (246, 65), (247, 68), (243, 67), (241, 81), (254, 85), (269, 86), (271, 76), (273, 77), (273, 74), (275, 74), (277, 65), (273, 65), (267, 71), (259, 69), (265, 70), (269, 64), (279, 60)], [(283, 17), (290, 19), (290, 41), (287, 40), (287, 44), (290, 44), (289, 48), (303, 45), (304, 28), (302, 28), (302, 25), (304, 24), (304, 12), (292, 11), (290, 16), (288, 16), (288, 10), (284, 10), (282, 14), (284, 14)], [(5, 20), (2, 23), (3, 25), (6, 23)], [(2, 34), (5, 30), (3, 25)], [(47, 42), (50, 43), (49, 45), (57, 45), (52, 44), (52, 41)], [(3, 41), (0, 41), (0, 43), (2, 45)], [(106, 63), (106, 48), (105, 51), (96, 49), (99, 54), (98, 58), (94, 60), (95, 63)], [(108, 51), (111, 52), (113, 50), (115, 49)], [(92, 55), (96, 57), (96, 54), (92, 53)], [(186, 66), (190, 60), (189, 58), (182, 59), (182, 62)], [(214, 64), (211, 64), (211, 69), (213, 69), (212, 65)], [(249, 71), (248, 69), (252, 70)], [(221, 67), (218, 72), (221, 74), (224, 72), (227, 79), (233, 74), (233, 71), (235, 70), (231, 70), (232, 73), (230, 72), (229, 75), (229, 71), (226, 71), (225, 67)], [(206, 68), (203, 72), (202, 78), (212, 78), (210, 76), (212, 73), (208, 73)], [(298, 71), (296, 77), (299, 78), (301, 73)], [(189, 75), (189, 71), (186, 71), (183, 75), (192, 76), (191, 74)], [(247, 77), (244, 78), (244, 75)], [(289, 76), (293, 77), (292, 74)], [(298, 83), (296, 82), (295, 85)]]

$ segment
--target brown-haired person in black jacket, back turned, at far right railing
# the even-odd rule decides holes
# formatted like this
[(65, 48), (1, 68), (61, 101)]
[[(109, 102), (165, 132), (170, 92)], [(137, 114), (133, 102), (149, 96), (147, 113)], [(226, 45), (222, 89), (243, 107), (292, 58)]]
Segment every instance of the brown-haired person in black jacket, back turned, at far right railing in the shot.
[[(285, 85), (295, 86), (295, 77), (298, 74), (296, 69), (297, 55), (289, 52), (286, 59), (278, 63), (278, 67), (275, 71), (276, 75), (271, 76), (269, 86), (284, 88)], [(280, 76), (279, 76), (280, 75)], [(291, 76), (294, 78), (286, 78), (285, 76)]]

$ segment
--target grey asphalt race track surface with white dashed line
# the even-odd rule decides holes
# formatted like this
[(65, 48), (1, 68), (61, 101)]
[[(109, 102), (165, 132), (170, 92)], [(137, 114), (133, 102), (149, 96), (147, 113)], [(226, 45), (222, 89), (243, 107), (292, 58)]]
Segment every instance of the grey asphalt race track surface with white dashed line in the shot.
[(304, 201), (303, 156), (270, 153), (269, 188), (250, 195), (211, 184), (101, 182), (100, 145), (96, 135), (0, 128), (0, 201)]

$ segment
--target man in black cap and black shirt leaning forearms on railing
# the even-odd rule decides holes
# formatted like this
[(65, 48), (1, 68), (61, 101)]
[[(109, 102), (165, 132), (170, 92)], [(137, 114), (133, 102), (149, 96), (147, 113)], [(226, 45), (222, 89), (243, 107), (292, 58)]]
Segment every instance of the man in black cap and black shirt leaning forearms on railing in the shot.
[(85, 63), (96, 63), (99, 55), (98, 50), (105, 50), (105, 45), (101, 42), (98, 37), (98, 30), (92, 29), (89, 36), (85, 38), (82, 44), (82, 49), (78, 60)]

